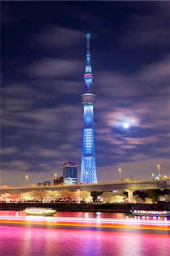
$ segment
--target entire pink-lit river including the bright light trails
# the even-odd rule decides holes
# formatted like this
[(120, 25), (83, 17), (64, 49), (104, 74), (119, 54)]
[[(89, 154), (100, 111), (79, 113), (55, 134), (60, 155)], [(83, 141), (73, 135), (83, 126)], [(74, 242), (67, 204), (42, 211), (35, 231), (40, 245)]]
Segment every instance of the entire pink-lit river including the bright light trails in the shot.
[(1, 256), (169, 255), (170, 220), (122, 213), (0, 211)]

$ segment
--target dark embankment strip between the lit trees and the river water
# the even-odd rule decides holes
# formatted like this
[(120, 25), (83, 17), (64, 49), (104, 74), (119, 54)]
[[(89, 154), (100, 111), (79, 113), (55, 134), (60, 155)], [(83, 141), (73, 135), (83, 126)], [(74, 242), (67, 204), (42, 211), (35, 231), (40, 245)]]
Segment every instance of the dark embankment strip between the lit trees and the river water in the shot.
[(26, 207), (53, 208), (58, 211), (122, 212), (137, 210), (170, 210), (169, 203), (156, 204), (77, 204), (77, 203), (1, 203), (0, 210), (23, 210)]

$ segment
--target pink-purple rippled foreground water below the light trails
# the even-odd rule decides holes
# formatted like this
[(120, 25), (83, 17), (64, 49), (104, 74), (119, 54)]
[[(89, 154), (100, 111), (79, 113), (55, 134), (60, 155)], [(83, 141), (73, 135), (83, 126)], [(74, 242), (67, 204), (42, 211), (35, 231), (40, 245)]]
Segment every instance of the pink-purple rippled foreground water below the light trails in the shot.
[(160, 256), (170, 250), (165, 234), (0, 226), (2, 256)]

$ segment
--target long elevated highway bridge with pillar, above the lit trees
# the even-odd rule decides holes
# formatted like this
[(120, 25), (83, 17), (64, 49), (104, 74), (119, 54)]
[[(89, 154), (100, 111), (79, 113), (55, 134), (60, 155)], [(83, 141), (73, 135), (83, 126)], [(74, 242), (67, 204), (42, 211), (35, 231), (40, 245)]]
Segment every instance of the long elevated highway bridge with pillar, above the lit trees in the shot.
[(23, 193), (32, 190), (69, 190), (69, 191), (113, 191), (113, 190), (124, 190), (128, 193), (128, 201), (133, 201), (133, 192), (136, 190), (143, 189), (170, 189), (170, 185), (166, 182), (170, 177), (163, 178), (161, 180), (122, 180), (112, 181), (109, 183), (97, 183), (97, 184), (76, 184), (76, 185), (51, 185), (48, 187), (39, 187), (38, 185), (32, 184), (23, 187), (7, 187), (1, 186), (1, 193)]

